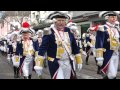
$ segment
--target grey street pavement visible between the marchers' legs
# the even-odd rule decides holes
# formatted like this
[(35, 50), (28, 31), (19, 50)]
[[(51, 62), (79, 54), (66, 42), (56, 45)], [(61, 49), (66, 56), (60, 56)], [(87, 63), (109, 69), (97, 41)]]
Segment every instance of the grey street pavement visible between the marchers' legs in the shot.
[[(83, 56), (83, 61), (85, 57)], [(43, 79), (50, 79), (48, 68), (43, 70)], [(78, 72), (78, 79), (102, 79), (101, 75), (97, 74), (97, 67), (95, 61), (91, 56), (89, 59), (89, 65), (83, 64), (83, 69)], [(0, 54), (0, 79), (14, 79), (12, 63), (8, 62), (4, 55)], [(33, 72), (32, 79), (38, 79), (37, 74)], [(118, 72), (117, 79), (120, 79), (120, 72)]]

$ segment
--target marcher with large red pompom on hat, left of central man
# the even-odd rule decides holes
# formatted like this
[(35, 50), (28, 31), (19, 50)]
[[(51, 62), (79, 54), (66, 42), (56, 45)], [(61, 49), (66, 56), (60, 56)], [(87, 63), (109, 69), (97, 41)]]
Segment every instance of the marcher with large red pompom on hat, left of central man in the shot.
[(32, 33), (30, 25), (27, 22), (23, 23), (20, 31), (22, 40), (17, 43), (16, 48), (16, 60), (20, 60), (20, 75), (23, 75), (24, 79), (31, 79), (34, 57), (38, 53), (38, 44), (31, 39)]

